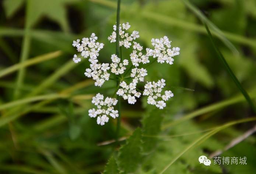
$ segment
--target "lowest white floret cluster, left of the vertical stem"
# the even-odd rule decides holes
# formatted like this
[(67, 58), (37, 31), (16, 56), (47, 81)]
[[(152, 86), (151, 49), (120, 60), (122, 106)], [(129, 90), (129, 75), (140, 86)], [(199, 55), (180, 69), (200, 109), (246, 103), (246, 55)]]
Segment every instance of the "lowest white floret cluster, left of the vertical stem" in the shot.
[(106, 97), (104, 100), (104, 96), (98, 93), (95, 97), (92, 97), (92, 103), (97, 106), (97, 110), (95, 108), (89, 110), (89, 116), (91, 118), (97, 117), (98, 125), (105, 125), (108, 122), (109, 117), (112, 118), (118, 117), (118, 110), (114, 110), (114, 105), (118, 103), (118, 100), (115, 98)]

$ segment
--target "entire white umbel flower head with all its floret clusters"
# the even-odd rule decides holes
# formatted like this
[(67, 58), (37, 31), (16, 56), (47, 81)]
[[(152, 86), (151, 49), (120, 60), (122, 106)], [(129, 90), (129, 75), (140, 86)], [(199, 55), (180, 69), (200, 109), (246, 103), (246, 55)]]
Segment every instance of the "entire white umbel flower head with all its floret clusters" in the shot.
[[(121, 77), (122, 81), (119, 82), (116, 93), (113, 96), (122, 96), (124, 100), (127, 100), (129, 104), (135, 104), (137, 99), (143, 96), (147, 96), (147, 103), (155, 105), (159, 109), (166, 107), (166, 101), (173, 97), (171, 90), (165, 90), (165, 79), (160, 79), (157, 82), (146, 82), (144, 91), (141, 94), (137, 89), (137, 84), (144, 82), (145, 76), (147, 76), (147, 70), (140, 68), (141, 64), (150, 63), (150, 58), (157, 59), (158, 63), (173, 64), (173, 57), (179, 55), (179, 47), (171, 47), (171, 41), (167, 36), (162, 38), (152, 38), (152, 48), (146, 48), (143, 51), (143, 47), (135, 42), (140, 37), (138, 31), (127, 32), (131, 26), (128, 22), (119, 26), (119, 45), (120, 47), (133, 48), (130, 53), (129, 59), (121, 60), (118, 55), (112, 54), (109, 60), (111, 63), (100, 63), (98, 61), (99, 51), (104, 47), (103, 43), (97, 42), (98, 37), (95, 33), (92, 33), (89, 38), (83, 38), (73, 41), (73, 47), (77, 48), (80, 56), (74, 55), (73, 61), (75, 63), (81, 62), (82, 58), (88, 58), (90, 62), (90, 68), (85, 69), (84, 75), (88, 78), (95, 80), (95, 86), (101, 87), (105, 81), (108, 81), (110, 75)], [(116, 42), (116, 25), (113, 26), (113, 32), (108, 37), (108, 40)], [(153, 61), (151, 60), (151, 61)], [(127, 68), (129, 66), (130, 68)], [(125, 77), (127, 74), (128, 77)], [(130, 79), (132, 79), (130, 81)], [(89, 116), (91, 118), (97, 117), (98, 125), (105, 125), (109, 121), (109, 117), (117, 118), (119, 116), (118, 110), (114, 109), (114, 106), (118, 103), (116, 98), (106, 97), (100, 93), (92, 98), (92, 103), (97, 107), (89, 110)]]

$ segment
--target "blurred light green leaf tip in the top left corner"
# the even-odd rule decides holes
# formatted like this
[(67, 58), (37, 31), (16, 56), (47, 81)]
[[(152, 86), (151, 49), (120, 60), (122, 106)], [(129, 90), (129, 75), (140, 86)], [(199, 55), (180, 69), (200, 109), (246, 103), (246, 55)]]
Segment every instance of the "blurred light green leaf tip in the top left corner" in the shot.
[(7, 18), (10, 18), (24, 3), (24, 0), (4, 0), (3, 6)]

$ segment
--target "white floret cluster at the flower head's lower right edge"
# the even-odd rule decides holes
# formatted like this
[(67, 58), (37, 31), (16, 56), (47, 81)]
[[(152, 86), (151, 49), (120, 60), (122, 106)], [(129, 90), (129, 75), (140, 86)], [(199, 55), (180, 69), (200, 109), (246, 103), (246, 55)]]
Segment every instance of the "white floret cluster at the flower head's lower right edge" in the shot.
[[(144, 96), (148, 96), (147, 103), (155, 105), (159, 109), (163, 109), (166, 107), (165, 101), (168, 101), (171, 97), (173, 97), (173, 93), (170, 90), (166, 90), (162, 95), (162, 89), (165, 86), (165, 80), (161, 79), (158, 82), (147, 82), (144, 86)], [(157, 100), (161, 98), (161, 100)]]

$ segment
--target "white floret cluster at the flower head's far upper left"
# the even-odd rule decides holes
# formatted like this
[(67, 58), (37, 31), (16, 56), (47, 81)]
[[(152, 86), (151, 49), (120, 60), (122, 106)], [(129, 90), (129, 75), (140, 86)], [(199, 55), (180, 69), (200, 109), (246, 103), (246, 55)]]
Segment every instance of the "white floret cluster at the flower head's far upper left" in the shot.
[[(97, 63), (97, 57), (99, 56), (99, 51), (103, 48), (104, 44), (96, 42), (98, 39), (97, 36), (95, 36), (95, 33), (91, 34), (90, 38), (83, 38), (82, 42), (80, 43), (80, 39), (77, 39), (76, 41), (73, 41), (73, 47), (77, 48), (78, 52), (81, 52), (81, 56), (84, 58), (88, 58), (90, 56), (89, 61), (91, 63)], [(75, 63), (78, 63), (81, 61), (81, 58), (78, 58), (75, 54), (73, 57), (73, 61)]]

